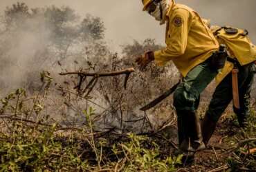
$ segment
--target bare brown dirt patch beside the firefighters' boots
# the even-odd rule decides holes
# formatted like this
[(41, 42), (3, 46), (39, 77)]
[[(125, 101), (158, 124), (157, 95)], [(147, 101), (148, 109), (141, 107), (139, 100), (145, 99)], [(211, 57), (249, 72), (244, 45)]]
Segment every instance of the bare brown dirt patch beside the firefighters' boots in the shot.
[(230, 156), (228, 150), (231, 147), (228, 138), (234, 136), (238, 130), (236, 126), (219, 122), (208, 147), (196, 153), (194, 164), (183, 166), (178, 171), (227, 171), (227, 160)]

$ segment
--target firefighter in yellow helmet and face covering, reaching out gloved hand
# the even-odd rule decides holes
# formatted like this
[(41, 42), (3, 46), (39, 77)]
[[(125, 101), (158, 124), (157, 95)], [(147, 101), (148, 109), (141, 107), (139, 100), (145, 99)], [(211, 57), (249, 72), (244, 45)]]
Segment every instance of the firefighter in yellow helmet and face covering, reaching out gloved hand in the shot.
[(174, 92), (178, 116), (179, 149), (193, 160), (194, 153), (205, 148), (196, 109), (200, 94), (217, 76), (211, 67), (219, 43), (197, 12), (171, 0), (143, 0), (143, 10), (163, 25), (166, 23), (163, 50), (146, 52), (136, 58), (140, 69), (152, 61), (163, 66), (173, 61), (183, 80)]

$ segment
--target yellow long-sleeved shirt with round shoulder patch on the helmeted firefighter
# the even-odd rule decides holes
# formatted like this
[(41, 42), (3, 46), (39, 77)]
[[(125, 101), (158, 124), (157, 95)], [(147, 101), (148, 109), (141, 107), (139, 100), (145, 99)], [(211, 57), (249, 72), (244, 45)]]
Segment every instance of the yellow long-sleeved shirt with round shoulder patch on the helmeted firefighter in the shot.
[(167, 47), (154, 52), (157, 65), (173, 61), (183, 76), (207, 60), (219, 48), (210, 29), (199, 14), (188, 6), (174, 3), (167, 12), (165, 43)]

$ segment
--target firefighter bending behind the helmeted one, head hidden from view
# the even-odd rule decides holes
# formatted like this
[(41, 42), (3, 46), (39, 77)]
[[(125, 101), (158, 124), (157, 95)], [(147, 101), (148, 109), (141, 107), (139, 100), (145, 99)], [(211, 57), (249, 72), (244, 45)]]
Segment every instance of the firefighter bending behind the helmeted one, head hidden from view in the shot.
[[(228, 59), (217, 75), (217, 88), (202, 124), (203, 142), (208, 144), (216, 123), (233, 99), (233, 110), (240, 127), (246, 127), (250, 116), (250, 90), (256, 73), (256, 47), (248, 38), (248, 31), (230, 27), (210, 26), (219, 43), (226, 45)], [(230, 89), (232, 87), (232, 89)]]

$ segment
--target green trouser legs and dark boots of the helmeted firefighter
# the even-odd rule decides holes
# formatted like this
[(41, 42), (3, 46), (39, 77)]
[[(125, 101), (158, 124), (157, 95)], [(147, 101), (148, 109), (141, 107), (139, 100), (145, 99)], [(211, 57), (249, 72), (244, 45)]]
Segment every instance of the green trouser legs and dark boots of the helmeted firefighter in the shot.
[(174, 107), (178, 116), (179, 147), (183, 151), (199, 149), (202, 143), (201, 126), (198, 116), (196, 116), (196, 109), (199, 107), (201, 92), (216, 75), (217, 71), (210, 67), (209, 58), (194, 67), (174, 92)]

